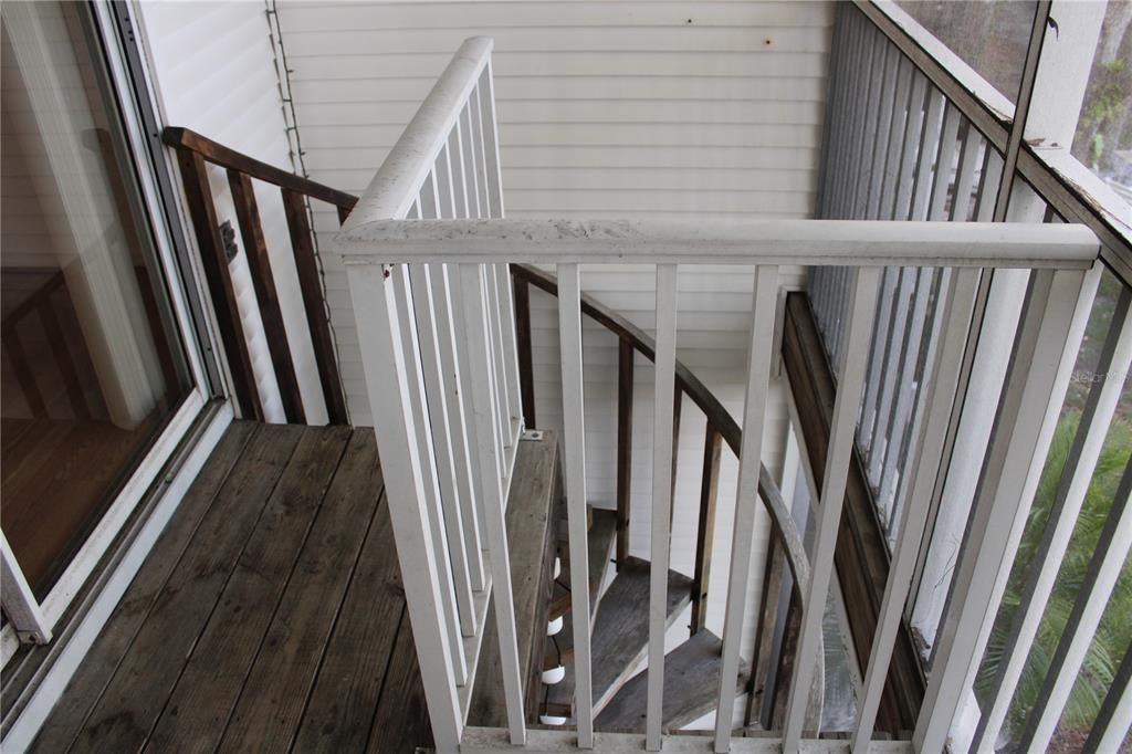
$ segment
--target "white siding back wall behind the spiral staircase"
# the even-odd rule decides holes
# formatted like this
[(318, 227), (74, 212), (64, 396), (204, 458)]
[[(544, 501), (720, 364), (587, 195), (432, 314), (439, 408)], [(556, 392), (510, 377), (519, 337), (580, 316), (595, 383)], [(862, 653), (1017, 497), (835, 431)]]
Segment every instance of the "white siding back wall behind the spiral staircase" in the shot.
[[(495, 37), (506, 211), (530, 216), (808, 217), (833, 18), (825, 2), (282, 2), (305, 161), (311, 178), (361, 192), (460, 42)], [(331, 212), (316, 226), (333, 232)], [(369, 421), (341, 264), (324, 254), (343, 378)], [(800, 268), (783, 283), (800, 286)], [(651, 271), (583, 269), (583, 288), (653, 326)], [(739, 415), (751, 327), (749, 272), (681, 269), (679, 358)], [(560, 423), (557, 314), (532, 292), (538, 423)], [(769, 336), (769, 334), (767, 334)], [(590, 499), (615, 500), (612, 336), (583, 332)], [(636, 369), (632, 549), (648, 555), (651, 365)], [(765, 461), (781, 464), (788, 421), (775, 380)], [(692, 572), (703, 415), (685, 402), (672, 565)], [(721, 631), (737, 462), (724, 451), (709, 627)], [(752, 605), (769, 525), (757, 529)], [(753, 620), (748, 619), (748, 637)], [(686, 636), (686, 620), (672, 640)]]

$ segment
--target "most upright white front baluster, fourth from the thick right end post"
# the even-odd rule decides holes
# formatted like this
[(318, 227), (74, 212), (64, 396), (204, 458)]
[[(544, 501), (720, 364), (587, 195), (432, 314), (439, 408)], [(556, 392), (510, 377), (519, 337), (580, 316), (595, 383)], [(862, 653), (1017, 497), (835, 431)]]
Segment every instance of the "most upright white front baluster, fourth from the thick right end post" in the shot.
[(664, 632), (668, 625), (669, 520), (672, 511), (672, 403), (676, 397), (676, 265), (657, 265), (657, 386), (653, 394), (652, 535), (649, 573), (649, 691), (645, 749), (660, 751)]

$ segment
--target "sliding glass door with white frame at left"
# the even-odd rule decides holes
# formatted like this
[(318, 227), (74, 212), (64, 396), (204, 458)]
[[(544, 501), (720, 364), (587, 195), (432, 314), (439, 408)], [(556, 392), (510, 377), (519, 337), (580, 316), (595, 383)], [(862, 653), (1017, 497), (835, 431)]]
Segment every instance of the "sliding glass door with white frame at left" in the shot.
[(123, 494), (206, 394), (135, 95), (96, 12), (0, 10), (0, 526), (41, 603), (89, 575), (101, 551), (85, 549), (105, 550), (140, 497)]

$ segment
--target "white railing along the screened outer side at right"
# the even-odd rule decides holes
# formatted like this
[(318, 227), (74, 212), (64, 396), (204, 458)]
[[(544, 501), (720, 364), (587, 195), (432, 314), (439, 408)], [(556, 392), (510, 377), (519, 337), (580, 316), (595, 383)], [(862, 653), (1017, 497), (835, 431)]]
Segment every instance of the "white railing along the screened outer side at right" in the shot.
[[(1074, 12), (1064, 5), (1060, 8), (1060, 36), (1072, 38)], [(1004, 155), (1011, 153), (1017, 129), (1010, 120), (994, 115), (1010, 113), (1014, 105), (945, 50), (936, 52), (935, 65), (925, 62), (923, 49), (934, 41), (923, 28), (912, 28), (915, 22), (898, 7), (885, 2), (846, 3), (838, 14), (831, 87), (834, 94), (829, 112), (832, 136), (825, 152), (822, 217), (1057, 224), (1064, 222), (1063, 217), (1088, 214), (1084, 200), (1075, 191), (1066, 197), (1065, 187), (1057, 183), (1052, 171), (1040, 172), (1030, 162), (1026, 163), (1028, 172), (1023, 172), (1024, 151), (1017, 157), (1017, 170), (1006, 164)], [(1035, 24), (1044, 31), (1044, 16), (1039, 14)], [(901, 28), (909, 29), (915, 41), (902, 37)], [(1073, 84), (1056, 74), (1053, 79), (1029, 84), (1034, 91), (1047, 94), (1053, 87), (1072, 101), (1069, 89)], [(985, 106), (972, 103), (971, 92)], [(1047, 109), (1060, 106), (1056, 97), (1040, 104)], [(1067, 135), (1047, 132), (1054, 138), (1046, 140), (1071, 142), (1072, 122)], [(1044, 190), (1039, 194), (1035, 187)], [(1108, 248), (1101, 249), (1103, 256), (1107, 252), (1109, 260), (1127, 258), (1126, 242), (1112, 233), (1104, 238), (1108, 239)], [(848, 268), (815, 269), (808, 291), (834, 362), (842, 342), (840, 328), (847, 316), (843, 299), (850, 274)], [(1096, 291), (1098, 281), (1105, 283), (1101, 293), (1081, 298), (1070, 331), (1071, 343), (1078, 343), (1080, 334), (1091, 327), (1100, 346), (1096, 363), (1083, 365), (1088, 369), (1088, 391), (1067, 454), (1047, 461), (1045, 448), (1062, 418), (1066, 387), (1075, 375), (1075, 346), (1066, 348), (1058, 363), (1046, 367), (1050, 375), (1056, 374), (1056, 382), (1049, 402), (1031, 419), (1031, 430), (1039, 439), (1029, 466), (1019, 468), (1024, 490), (1020, 505), (994, 513), (980, 507), (985, 505), (985, 500), (980, 502), (980, 472), (989, 457), (988, 442), (997, 430), (1000, 394), (1012, 378), (1011, 346), (1027, 306), (1027, 286), (1032, 283), (1024, 271), (998, 274), (985, 282), (979, 300), (983, 326), (974, 333), (978, 345), (970, 349), (969, 385), (957, 423), (961, 442), (951, 453), (944, 489), (926, 534), (932, 541), (921, 548), (912, 574), (912, 599), (907, 606), (925, 660), (932, 662), (932, 668), (938, 668), (941, 662), (949, 665), (931, 674), (928, 701), (943, 699), (946, 705), (958, 709), (947, 722), (941, 718), (933, 727), (917, 730), (917, 742), (929, 751), (949, 738), (949, 732), (953, 751), (993, 752), (1007, 740), (1019, 751), (1045, 751), (1070, 704), (1074, 684), (1084, 672), (1101, 614), (1118, 588), (1129, 552), (1126, 539), (1120, 537), (1126, 535), (1117, 534), (1115, 541), (1108, 538), (1130, 525), (1127, 485), (1132, 482), (1127, 481), (1117, 486), (1112, 500), (1106, 500), (1112, 507), (1105, 512), (1100, 545), (1092, 554), (1066, 628), (1057, 628), (1061, 637), (1055, 641), (1056, 648), (1037, 641), (1054, 601), (1074, 528), (1086, 511), (1101, 452), (1114, 436), (1110, 430), (1132, 361), (1132, 288), (1126, 277), (1120, 280), (1118, 265), (1113, 271), (1098, 266), (1087, 281), (1087, 291)], [(911, 499), (908, 485), (919, 455), (916, 428), (926, 413), (923, 375), (942, 358), (943, 333), (934, 315), (938, 285), (938, 275), (929, 269), (887, 268), (869, 344), (857, 440), (892, 548), (900, 537), (903, 505)], [(1017, 360), (1017, 355), (1013, 358)], [(1035, 491), (1044, 466), (1050, 463), (1058, 464), (1050, 471), (1060, 472), (1061, 481), (1052, 490), (1047, 520), (1035, 520), (1030, 513)], [(1087, 513), (1097, 515), (1096, 511)], [(987, 525), (990, 530), (984, 531)], [(1040, 543), (1037, 555), (1019, 568), (1014, 560), (1023, 531)], [(980, 539), (983, 549), (972, 546)], [(1012, 567), (1018, 571), (1013, 579), (1018, 580), (1022, 598), (1017, 607), (1007, 606), (1000, 612)], [(971, 586), (977, 589), (967, 592)], [(987, 635), (996, 619), (1004, 626), (1005, 646), (987, 661)], [(947, 649), (947, 642), (957, 636), (964, 642), (958, 662)], [(934, 646), (940, 641), (943, 646)], [(1050, 657), (1028, 667), (1035, 653)], [(1125, 654), (1120, 668), (1120, 656), (1113, 658), (1110, 683), (1094, 679), (1094, 686), (1108, 687), (1100, 692), (1105, 701), (1097, 711), (1087, 751), (1109, 751), (1101, 742), (1122, 738), (1132, 722), (1132, 652)], [(1035, 667), (1041, 674), (1040, 689), (1022, 693), (1037, 701), (1032, 709), (1024, 704), (1019, 708), (1023, 672), (1034, 672)], [(977, 671), (988, 679), (981, 703), (970, 691)], [(1031, 678), (1027, 683), (1035, 682)], [(1015, 719), (1007, 725), (1012, 705)], [(1024, 718), (1021, 721), (1019, 709)]]

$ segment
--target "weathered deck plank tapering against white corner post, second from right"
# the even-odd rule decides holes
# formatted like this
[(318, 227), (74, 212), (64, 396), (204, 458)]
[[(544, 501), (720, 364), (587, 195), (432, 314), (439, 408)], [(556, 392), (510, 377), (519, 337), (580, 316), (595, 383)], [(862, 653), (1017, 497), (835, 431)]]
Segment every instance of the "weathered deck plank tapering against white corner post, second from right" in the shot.
[[(367, 442), (357, 452), (376, 463), (376, 440), (372, 432), (365, 434)], [(383, 498), (354, 566), (293, 751), (365, 751), (404, 607), (393, 524)]]

